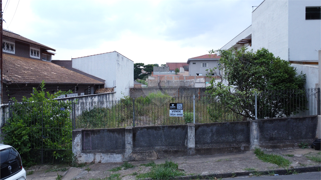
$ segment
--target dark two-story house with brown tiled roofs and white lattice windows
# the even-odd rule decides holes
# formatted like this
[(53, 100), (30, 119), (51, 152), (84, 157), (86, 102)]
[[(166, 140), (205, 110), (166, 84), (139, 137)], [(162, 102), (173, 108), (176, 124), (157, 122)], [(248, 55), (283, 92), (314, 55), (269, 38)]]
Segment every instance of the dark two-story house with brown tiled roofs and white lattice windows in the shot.
[(46, 82), (45, 91), (71, 90), (68, 96), (94, 94), (104, 87), (104, 80), (90, 78), (51, 62), (56, 51), (46, 45), (32, 41), (8, 30), (3, 30), (3, 99), (18, 101), (23, 96), (30, 97), (33, 87), (39, 89), (42, 80)]

